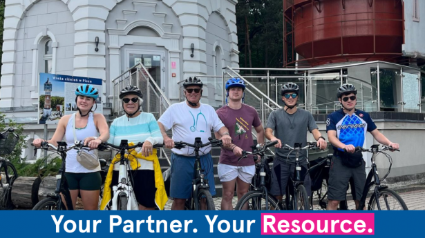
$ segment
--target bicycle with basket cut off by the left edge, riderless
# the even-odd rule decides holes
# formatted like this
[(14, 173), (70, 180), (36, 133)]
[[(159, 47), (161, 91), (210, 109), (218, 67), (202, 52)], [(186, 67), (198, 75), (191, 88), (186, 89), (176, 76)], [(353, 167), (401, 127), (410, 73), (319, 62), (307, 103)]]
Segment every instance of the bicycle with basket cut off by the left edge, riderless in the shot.
[(4, 159), (15, 150), (19, 136), (14, 133), (13, 128), (8, 128), (0, 133), (0, 210), (13, 209), (12, 186), (18, 177), (18, 172), (10, 161)]

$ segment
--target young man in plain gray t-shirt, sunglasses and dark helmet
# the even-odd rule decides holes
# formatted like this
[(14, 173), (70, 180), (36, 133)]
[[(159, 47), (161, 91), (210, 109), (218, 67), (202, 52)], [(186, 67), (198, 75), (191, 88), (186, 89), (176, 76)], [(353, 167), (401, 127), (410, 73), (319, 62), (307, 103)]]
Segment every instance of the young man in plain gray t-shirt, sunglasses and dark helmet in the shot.
[[(289, 181), (290, 176), (294, 175), (295, 170), (295, 153), (290, 153), (290, 150), (284, 150), (283, 146), (287, 144), (293, 147), (294, 143), (302, 143), (302, 146), (306, 146), (306, 129), (313, 134), (319, 148), (323, 150), (327, 146), (325, 138), (321, 136), (312, 114), (306, 110), (296, 108), (299, 86), (295, 83), (285, 83), (281, 88), (281, 93), (285, 108), (273, 111), (269, 116), (265, 128), (265, 137), (270, 141), (278, 141), (274, 146), (276, 148), (276, 159), (274, 159), (273, 163), (273, 179), (270, 192), (279, 200), (286, 194), (287, 181)], [(300, 160), (301, 165), (307, 168), (307, 157), (305, 154), (305, 151), (300, 152)], [(305, 177), (304, 186), (308, 195), (311, 195), (311, 180), (309, 175)]]

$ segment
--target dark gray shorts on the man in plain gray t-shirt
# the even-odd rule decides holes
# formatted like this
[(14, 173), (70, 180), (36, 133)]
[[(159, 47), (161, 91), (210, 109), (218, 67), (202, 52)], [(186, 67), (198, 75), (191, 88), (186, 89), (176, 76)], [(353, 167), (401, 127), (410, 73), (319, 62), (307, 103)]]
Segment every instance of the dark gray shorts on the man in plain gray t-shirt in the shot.
[[(307, 164), (301, 165), (301, 179), (304, 177), (304, 187), (307, 190), (307, 194), (311, 195), (312, 179), (307, 173)], [(286, 163), (277, 157), (273, 161), (272, 169), (272, 186), (270, 193), (274, 196), (286, 195), (287, 181), (290, 181), (290, 177), (294, 177), (295, 164)]]

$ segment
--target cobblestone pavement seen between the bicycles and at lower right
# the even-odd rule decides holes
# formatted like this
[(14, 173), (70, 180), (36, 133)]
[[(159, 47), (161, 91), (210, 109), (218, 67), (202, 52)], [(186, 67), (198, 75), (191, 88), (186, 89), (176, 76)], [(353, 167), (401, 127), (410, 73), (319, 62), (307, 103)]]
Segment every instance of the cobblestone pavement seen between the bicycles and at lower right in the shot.
[[(402, 197), (406, 206), (409, 210), (425, 210), (425, 190), (414, 190), (410, 192), (401, 192), (399, 195)], [(369, 199), (366, 199), (369, 201)], [(237, 197), (233, 198), (233, 206), (235, 207), (237, 203)], [(165, 205), (165, 210), (171, 209), (172, 200), (169, 200)], [(216, 205), (216, 210), (220, 209), (221, 197), (214, 198), (214, 204)], [(348, 201), (348, 208), (351, 210), (355, 209), (354, 201)], [(319, 206), (315, 206), (314, 210), (319, 210)]]

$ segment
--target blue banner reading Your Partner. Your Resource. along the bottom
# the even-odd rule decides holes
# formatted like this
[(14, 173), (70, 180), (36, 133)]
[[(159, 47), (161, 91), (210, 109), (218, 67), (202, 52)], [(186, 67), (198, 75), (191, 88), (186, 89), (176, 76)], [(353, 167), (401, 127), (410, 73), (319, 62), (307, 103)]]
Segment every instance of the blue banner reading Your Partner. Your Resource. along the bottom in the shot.
[[(294, 214), (293, 211), (288, 211)], [(280, 220), (270, 219), (270, 214), (280, 216)], [(259, 237), (263, 232), (284, 235), (292, 228), (292, 233), (299, 235), (314, 230), (316, 221), (312, 217), (322, 214), (325, 217), (335, 215), (329, 221), (323, 236), (341, 237), (337, 230), (358, 232), (358, 235), (374, 237), (422, 237), (425, 211), (391, 211), (391, 212), (297, 212), (297, 225), (285, 224), (285, 212), (260, 211), (0, 211), (1, 237)], [(338, 214), (336, 214), (338, 213)], [(262, 215), (263, 214), (263, 215)], [(327, 216), (326, 216), (327, 215)], [(347, 221), (341, 219), (346, 215)], [(352, 224), (348, 219), (355, 217), (375, 217), (373, 226)], [(291, 219), (287, 214), (287, 219)], [(293, 215), (292, 215), (293, 216)], [(268, 220), (266, 220), (266, 217)], [(283, 217), (283, 218), (282, 218)], [(263, 220), (262, 220), (263, 219)], [(336, 220), (338, 219), (338, 220)], [(358, 218), (356, 218), (358, 219)], [(308, 222), (303, 222), (306, 220)], [(312, 220), (312, 221), (309, 221)], [(276, 229), (272, 228), (272, 222)], [(310, 224), (309, 224), (310, 223)], [(267, 226), (265, 226), (267, 225)], [(270, 225), (270, 226), (268, 226)], [(293, 226), (293, 227), (292, 227)], [(323, 223), (319, 226), (323, 230)], [(333, 229), (334, 227), (335, 229)], [(301, 230), (301, 231), (300, 231)], [(334, 231), (335, 230), (335, 231)], [(298, 232), (298, 233), (297, 233)], [(321, 232), (321, 231), (319, 231)], [(333, 232), (333, 233), (332, 233)], [(313, 234), (314, 232), (312, 232)], [(355, 234), (357, 235), (357, 234)], [(265, 235), (267, 236), (267, 235)], [(296, 236), (296, 235), (295, 235)], [(310, 235), (314, 236), (314, 235)], [(292, 235), (294, 237), (294, 235)], [(305, 235), (303, 235), (305, 237)]]

